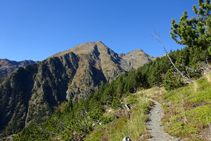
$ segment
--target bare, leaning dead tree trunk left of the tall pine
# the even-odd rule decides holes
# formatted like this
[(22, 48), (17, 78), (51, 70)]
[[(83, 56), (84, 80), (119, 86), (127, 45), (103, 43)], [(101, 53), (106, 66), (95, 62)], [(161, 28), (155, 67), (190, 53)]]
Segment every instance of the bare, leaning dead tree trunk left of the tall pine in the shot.
[(163, 45), (163, 42), (162, 42), (162, 40), (161, 40), (161, 37), (160, 37), (159, 33), (157, 33), (157, 32), (154, 31), (154, 33), (153, 33), (152, 35), (153, 35), (153, 37), (154, 37), (159, 43), (161, 43), (161, 45), (162, 45), (162, 47), (164, 48), (164, 50), (165, 50), (165, 52), (166, 52), (166, 55), (168, 56), (168, 58), (169, 58), (171, 64), (174, 66), (174, 68), (177, 70), (177, 72), (180, 74), (180, 76), (182, 76), (183, 78), (185, 78), (185, 79), (188, 81), (188, 83), (191, 83), (192, 80), (190, 80), (188, 77), (186, 77), (184, 74), (182, 74), (182, 72), (174, 65), (174, 63), (173, 63), (173, 61), (171, 60), (171, 58), (170, 58), (170, 56), (169, 56), (169, 54), (168, 54), (166, 48), (165, 48), (164, 45)]

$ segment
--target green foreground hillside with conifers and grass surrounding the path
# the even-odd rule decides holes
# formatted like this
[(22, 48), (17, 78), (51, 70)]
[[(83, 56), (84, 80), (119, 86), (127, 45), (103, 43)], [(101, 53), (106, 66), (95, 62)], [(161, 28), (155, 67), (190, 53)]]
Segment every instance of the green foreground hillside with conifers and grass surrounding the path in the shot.
[[(185, 65), (194, 67), (198, 62), (204, 62), (204, 58), (199, 58), (197, 55), (205, 56), (205, 54), (205, 51), (185, 47), (181, 51), (172, 52), (170, 56), (174, 63), (185, 62)], [(185, 60), (181, 60), (181, 56)], [(100, 85), (95, 93), (89, 94), (83, 101), (74, 104), (72, 101), (62, 103), (45, 122), (30, 124), (13, 139), (14, 141), (61, 140), (61, 138), (62, 140), (85, 138), (90, 141), (122, 140), (124, 136), (119, 135), (126, 133), (132, 140), (146, 140), (151, 137), (151, 132), (146, 131), (147, 127), (143, 125), (149, 119), (147, 113), (150, 107), (154, 105), (152, 101), (145, 99), (148, 97), (164, 105), (162, 108), (167, 112), (164, 113), (166, 115), (162, 122), (171, 135), (183, 140), (187, 137), (190, 137), (190, 140), (206, 140), (209, 133), (207, 127), (211, 122), (211, 119), (208, 119), (211, 117), (210, 75), (200, 78), (194, 84), (186, 85), (180, 81), (180, 77), (177, 77), (178, 74), (173, 74), (175, 70), (172, 71), (172, 65), (169, 63), (168, 57), (161, 57), (136, 70), (132, 69), (119, 75), (110, 83)], [(191, 71), (184, 71), (185, 75), (190, 73)], [(173, 75), (176, 77), (171, 77)], [(195, 80), (201, 76), (201, 72), (196, 71), (189, 76)], [(160, 87), (161, 85), (163, 87)], [(176, 89), (178, 87), (180, 88)], [(172, 111), (174, 114), (171, 114)], [(185, 114), (189, 115), (186, 117)], [(171, 119), (175, 120), (172, 122)], [(97, 124), (99, 124), (97, 127), (93, 127)], [(181, 124), (184, 126), (178, 128)], [(190, 129), (193, 131), (191, 136)], [(195, 133), (199, 136), (195, 136)], [(12, 136), (7, 138), (11, 139)]]

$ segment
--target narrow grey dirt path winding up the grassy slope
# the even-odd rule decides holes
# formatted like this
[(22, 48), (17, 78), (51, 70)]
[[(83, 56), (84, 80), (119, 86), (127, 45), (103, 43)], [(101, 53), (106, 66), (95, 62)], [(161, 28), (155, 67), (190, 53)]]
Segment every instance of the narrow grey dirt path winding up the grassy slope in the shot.
[(153, 109), (150, 111), (147, 127), (152, 138), (149, 141), (179, 141), (180, 139), (168, 135), (161, 125), (161, 117), (163, 115), (161, 104), (153, 99), (149, 99), (155, 103)]

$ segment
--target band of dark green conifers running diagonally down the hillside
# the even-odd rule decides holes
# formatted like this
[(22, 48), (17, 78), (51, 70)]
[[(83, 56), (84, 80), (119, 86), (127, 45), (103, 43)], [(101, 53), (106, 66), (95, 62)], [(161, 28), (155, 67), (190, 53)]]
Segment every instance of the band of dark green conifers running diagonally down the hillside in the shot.
[[(206, 51), (199, 52), (198, 50), (198, 48), (185, 47), (182, 50), (171, 51), (169, 55), (176, 66), (183, 73), (188, 74), (184, 66), (196, 68), (197, 62), (205, 60)], [(167, 56), (156, 58), (156, 60), (137, 70), (132, 69), (128, 73), (119, 75), (111, 82), (101, 82), (97, 92), (90, 93), (85, 100), (74, 101), (74, 103), (69, 101), (63, 110), (59, 108), (40, 126), (49, 132), (61, 135), (64, 140), (76, 138), (76, 134), (79, 136), (89, 134), (93, 130), (93, 121), (102, 120), (103, 123), (108, 123), (114, 120), (114, 117), (103, 117), (105, 105), (114, 109), (121, 107), (122, 98), (140, 88), (150, 88), (164, 84), (167, 90), (172, 90), (183, 86), (180, 78), (177, 78), (177, 76), (171, 78), (173, 72), (174, 70)], [(187, 76), (195, 77), (196, 74)], [(21, 137), (30, 137), (31, 132), (29, 131), (32, 130), (32, 127), (34, 126), (25, 128), (24, 134), (23, 131), (21, 132)], [(37, 139), (41, 135), (39, 134)], [(47, 139), (46, 136), (50, 137), (51, 134), (43, 134), (43, 137)]]

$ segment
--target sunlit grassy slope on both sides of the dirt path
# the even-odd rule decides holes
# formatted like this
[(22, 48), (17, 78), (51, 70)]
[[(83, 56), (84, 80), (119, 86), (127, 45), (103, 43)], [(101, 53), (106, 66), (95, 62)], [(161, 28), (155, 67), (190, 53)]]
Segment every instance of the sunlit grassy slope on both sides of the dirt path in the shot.
[[(146, 113), (152, 103), (145, 97), (153, 98), (162, 104), (165, 114), (162, 124), (167, 133), (183, 140), (208, 140), (211, 131), (210, 80), (210, 76), (202, 77), (193, 84), (170, 92), (164, 88), (153, 87), (130, 95), (127, 102), (135, 106), (130, 111), (130, 120), (123, 116), (116, 122), (98, 125), (85, 141), (99, 141), (102, 138), (116, 141), (125, 136), (131, 137), (133, 141), (149, 138), (150, 134), (144, 122), (148, 120)], [(108, 116), (108, 113), (105, 115)]]

